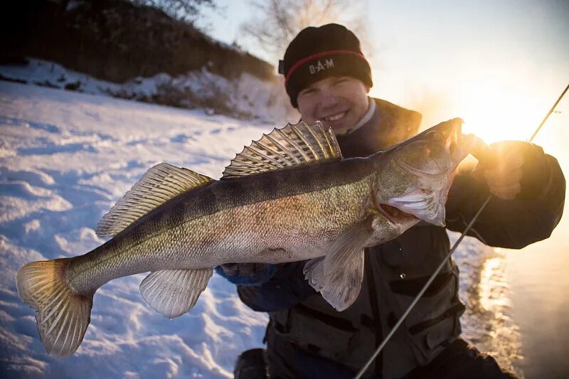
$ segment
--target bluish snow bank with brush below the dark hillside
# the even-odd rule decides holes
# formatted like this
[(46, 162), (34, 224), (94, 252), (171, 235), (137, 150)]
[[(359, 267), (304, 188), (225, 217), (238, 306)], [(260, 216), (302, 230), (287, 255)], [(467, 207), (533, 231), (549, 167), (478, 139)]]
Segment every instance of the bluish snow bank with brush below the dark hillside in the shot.
[(0, 65), (0, 79), (187, 109), (202, 108), (209, 114), (240, 119), (277, 122), (299, 118), (289, 103), (282, 78), (276, 76), (267, 81), (241, 73), (228, 79), (203, 67), (176, 77), (161, 73), (117, 84), (68, 70), (58, 63), (29, 58), (27, 65)]

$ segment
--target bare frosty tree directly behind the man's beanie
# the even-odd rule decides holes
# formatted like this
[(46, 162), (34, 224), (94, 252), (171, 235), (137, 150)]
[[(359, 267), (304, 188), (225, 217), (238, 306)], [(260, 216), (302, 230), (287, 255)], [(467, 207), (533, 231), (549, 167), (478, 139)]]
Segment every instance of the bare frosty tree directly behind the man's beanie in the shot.
[(366, 43), (361, 9), (349, 0), (254, 0), (260, 16), (245, 21), (240, 32), (265, 51), (268, 58), (282, 58), (285, 48), (307, 26), (342, 23)]

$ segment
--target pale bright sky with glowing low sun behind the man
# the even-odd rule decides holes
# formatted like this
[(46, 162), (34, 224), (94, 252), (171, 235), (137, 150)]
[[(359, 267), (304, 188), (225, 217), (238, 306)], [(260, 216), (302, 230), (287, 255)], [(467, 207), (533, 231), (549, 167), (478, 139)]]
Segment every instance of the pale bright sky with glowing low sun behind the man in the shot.
[[(208, 33), (261, 58), (239, 26), (249, 1), (216, 1)], [(462, 117), (487, 142), (527, 139), (569, 83), (569, 1), (364, 1), (371, 95), (423, 114)], [(277, 33), (277, 31), (275, 31)], [(284, 52), (283, 52), (284, 54)], [(550, 122), (569, 123), (565, 99)], [(556, 120), (553, 120), (556, 119)]]

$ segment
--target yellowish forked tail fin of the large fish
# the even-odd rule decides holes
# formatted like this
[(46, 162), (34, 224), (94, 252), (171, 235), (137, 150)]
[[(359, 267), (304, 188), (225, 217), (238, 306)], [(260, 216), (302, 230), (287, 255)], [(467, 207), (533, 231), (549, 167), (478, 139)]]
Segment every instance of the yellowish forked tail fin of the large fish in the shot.
[(60, 358), (73, 354), (91, 319), (93, 294), (78, 294), (65, 282), (68, 259), (31, 262), (16, 274), (19, 297), (33, 308), (41, 343)]

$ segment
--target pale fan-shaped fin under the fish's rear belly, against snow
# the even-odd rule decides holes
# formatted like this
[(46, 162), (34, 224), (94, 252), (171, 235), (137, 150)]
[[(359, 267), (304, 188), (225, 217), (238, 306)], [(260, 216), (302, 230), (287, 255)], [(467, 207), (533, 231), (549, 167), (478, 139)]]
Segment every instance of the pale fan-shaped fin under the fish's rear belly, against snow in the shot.
[(206, 289), (213, 269), (163, 269), (151, 272), (140, 283), (140, 293), (149, 306), (167, 319), (193, 308)]

